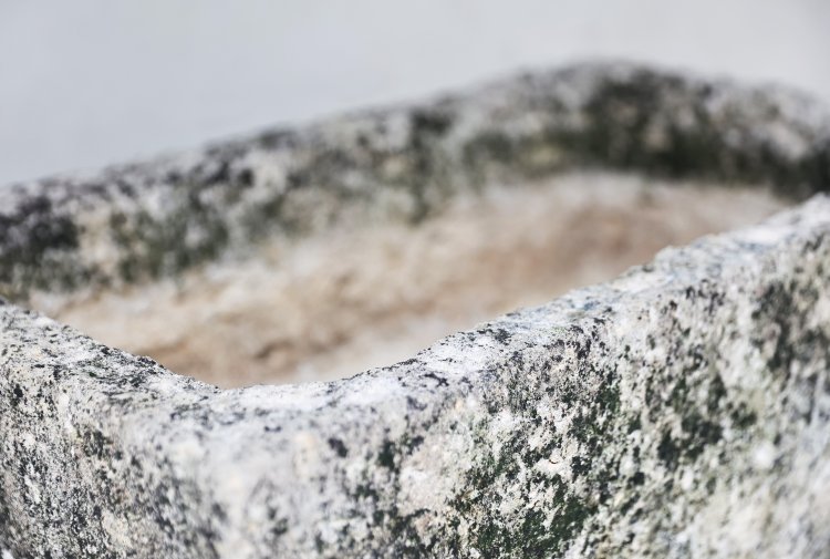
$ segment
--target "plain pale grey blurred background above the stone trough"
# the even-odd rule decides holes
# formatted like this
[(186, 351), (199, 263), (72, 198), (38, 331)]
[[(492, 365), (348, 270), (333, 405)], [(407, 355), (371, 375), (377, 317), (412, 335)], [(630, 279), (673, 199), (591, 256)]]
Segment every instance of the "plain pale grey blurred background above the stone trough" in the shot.
[(0, 0), (0, 184), (592, 56), (830, 101), (828, 0)]

